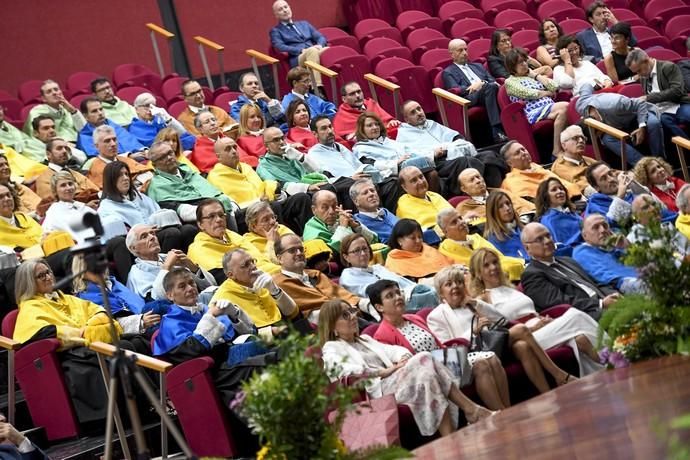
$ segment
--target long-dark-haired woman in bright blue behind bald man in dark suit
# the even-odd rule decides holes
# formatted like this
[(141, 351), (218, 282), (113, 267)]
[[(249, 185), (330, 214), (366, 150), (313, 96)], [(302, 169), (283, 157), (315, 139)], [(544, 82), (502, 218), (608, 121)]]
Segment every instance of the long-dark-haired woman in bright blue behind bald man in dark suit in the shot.
[[(582, 216), (575, 212), (575, 205), (560, 180), (552, 177), (539, 184), (534, 204), (537, 208), (534, 219), (549, 229), (557, 246), (570, 248), (572, 252), (572, 248), (582, 243)], [(569, 255), (561, 250), (558, 254)]]

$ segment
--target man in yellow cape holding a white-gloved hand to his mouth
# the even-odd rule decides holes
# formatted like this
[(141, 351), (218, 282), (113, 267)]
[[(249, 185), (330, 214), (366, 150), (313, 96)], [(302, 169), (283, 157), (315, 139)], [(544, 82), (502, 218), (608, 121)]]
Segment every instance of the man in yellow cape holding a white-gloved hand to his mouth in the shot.
[(226, 300), (237, 305), (252, 320), (259, 336), (271, 341), (284, 326), (283, 319), (299, 314), (294, 300), (276, 286), (270, 274), (256, 267), (256, 261), (244, 249), (232, 249), (223, 256), (227, 279), (213, 295), (214, 300)]

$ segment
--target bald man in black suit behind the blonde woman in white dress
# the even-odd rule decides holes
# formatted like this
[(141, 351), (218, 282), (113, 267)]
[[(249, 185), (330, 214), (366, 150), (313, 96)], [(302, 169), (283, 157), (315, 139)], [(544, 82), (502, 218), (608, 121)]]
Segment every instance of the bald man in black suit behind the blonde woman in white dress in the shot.
[(620, 298), (610, 287), (597, 285), (570, 257), (555, 257), (555, 242), (544, 225), (527, 224), (521, 240), (532, 258), (522, 274), (522, 288), (537, 311), (568, 304), (599, 320), (602, 310)]

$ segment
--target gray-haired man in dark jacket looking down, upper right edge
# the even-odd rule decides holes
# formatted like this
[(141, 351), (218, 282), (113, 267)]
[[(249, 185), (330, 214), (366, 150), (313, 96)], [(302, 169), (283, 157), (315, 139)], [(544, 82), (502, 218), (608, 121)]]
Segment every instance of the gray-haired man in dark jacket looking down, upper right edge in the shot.
[(670, 61), (651, 58), (641, 49), (630, 51), (625, 65), (640, 76), (645, 93), (640, 99), (656, 105), (661, 113), (661, 125), (671, 136), (688, 139), (688, 134), (679, 126), (690, 124), (690, 96), (680, 67)]

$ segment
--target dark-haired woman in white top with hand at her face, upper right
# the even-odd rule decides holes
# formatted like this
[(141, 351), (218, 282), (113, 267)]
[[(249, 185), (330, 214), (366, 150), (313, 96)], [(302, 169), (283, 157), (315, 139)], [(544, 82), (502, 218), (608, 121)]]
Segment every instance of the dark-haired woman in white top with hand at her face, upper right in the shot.
[(559, 38), (556, 49), (558, 65), (553, 69), (553, 81), (560, 89), (572, 90), (575, 97), (580, 95), (582, 85), (592, 85), (595, 90), (613, 86), (611, 79), (596, 65), (583, 59), (584, 49), (575, 36)]

